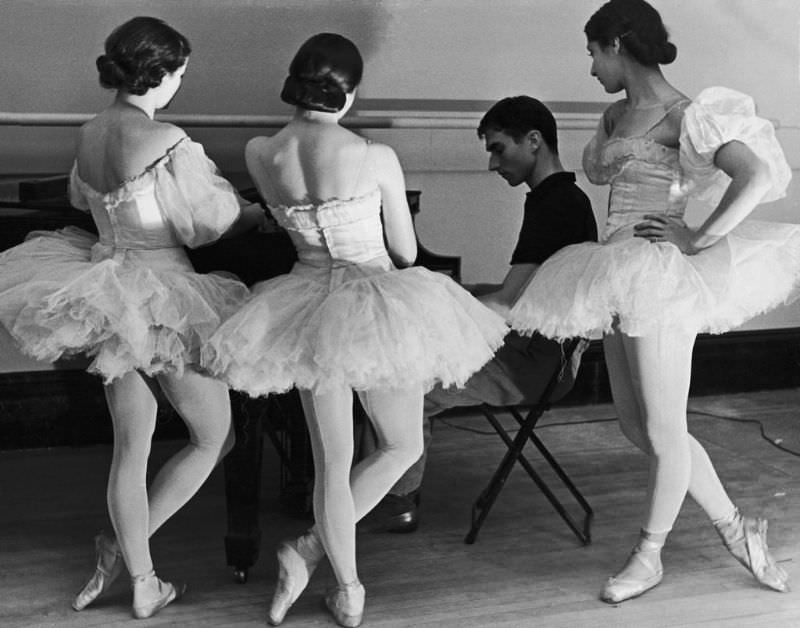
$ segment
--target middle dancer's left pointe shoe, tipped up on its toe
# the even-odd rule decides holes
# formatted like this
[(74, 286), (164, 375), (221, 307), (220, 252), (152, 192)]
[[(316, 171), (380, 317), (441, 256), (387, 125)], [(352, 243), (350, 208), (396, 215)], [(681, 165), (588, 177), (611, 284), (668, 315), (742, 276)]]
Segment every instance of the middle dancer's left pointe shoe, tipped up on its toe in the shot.
[(278, 584), (272, 596), (267, 621), (279, 626), (292, 604), (305, 590), (311, 574), (325, 556), (322, 543), (313, 532), (284, 541), (278, 547)]

